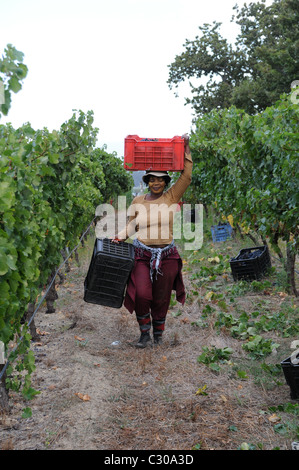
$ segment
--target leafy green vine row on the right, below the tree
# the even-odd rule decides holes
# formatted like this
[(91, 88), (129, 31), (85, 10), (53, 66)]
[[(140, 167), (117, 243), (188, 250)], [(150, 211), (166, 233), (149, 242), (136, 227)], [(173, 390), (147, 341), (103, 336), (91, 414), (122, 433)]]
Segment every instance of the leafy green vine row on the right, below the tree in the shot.
[(198, 119), (186, 198), (214, 205), (234, 225), (298, 252), (299, 108), (291, 96), (250, 116), (230, 107)]

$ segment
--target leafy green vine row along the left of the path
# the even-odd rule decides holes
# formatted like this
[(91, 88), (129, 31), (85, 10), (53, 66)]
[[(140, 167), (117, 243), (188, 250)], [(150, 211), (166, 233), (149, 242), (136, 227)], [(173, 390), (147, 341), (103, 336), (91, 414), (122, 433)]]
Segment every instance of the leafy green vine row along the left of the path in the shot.
[(35, 131), (28, 123), (0, 126), (0, 341), (7, 349), (22, 337), (7, 384), (26, 398), (35, 393), (30, 335), (21, 325), (28, 303), (61, 263), (61, 249), (77, 245), (110, 191), (129, 189), (121, 161), (96, 149), (96, 137), (91, 111), (75, 112), (59, 131)]

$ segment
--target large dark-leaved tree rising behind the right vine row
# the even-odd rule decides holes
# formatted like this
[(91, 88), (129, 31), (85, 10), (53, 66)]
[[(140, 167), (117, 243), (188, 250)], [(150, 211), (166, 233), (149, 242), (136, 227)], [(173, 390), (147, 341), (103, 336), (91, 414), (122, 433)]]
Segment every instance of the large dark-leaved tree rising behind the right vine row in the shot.
[(200, 36), (169, 65), (170, 89), (189, 80), (196, 114), (235, 105), (249, 114), (264, 110), (290, 92), (298, 79), (299, 11), (297, 0), (265, 0), (234, 7), (232, 21), (240, 26), (234, 47), (220, 34), (221, 23), (199, 27)]

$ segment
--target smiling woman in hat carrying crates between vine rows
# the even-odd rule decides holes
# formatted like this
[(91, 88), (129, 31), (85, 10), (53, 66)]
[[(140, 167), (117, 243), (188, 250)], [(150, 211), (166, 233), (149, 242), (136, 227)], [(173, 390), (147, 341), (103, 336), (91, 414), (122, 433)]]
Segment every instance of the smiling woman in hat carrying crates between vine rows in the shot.
[(133, 242), (135, 264), (124, 305), (130, 313), (136, 312), (141, 332), (136, 344), (139, 348), (145, 348), (151, 342), (151, 326), (154, 344), (162, 342), (171, 291), (176, 290), (176, 299), (180, 303), (185, 301), (182, 260), (173, 242), (173, 215), (191, 182), (193, 165), (189, 137), (183, 137), (184, 169), (179, 179), (167, 189), (170, 182), (167, 172), (147, 171), (143, 181), (149, 192), (134, 198), (128, 224), (113, 240), (136, 237)]

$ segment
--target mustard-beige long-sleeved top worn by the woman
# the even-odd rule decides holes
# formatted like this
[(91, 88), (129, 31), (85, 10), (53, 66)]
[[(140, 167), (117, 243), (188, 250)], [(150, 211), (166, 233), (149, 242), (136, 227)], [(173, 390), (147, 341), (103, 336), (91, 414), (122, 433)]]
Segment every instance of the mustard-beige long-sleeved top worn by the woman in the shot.
[(158, 199), (147, 200), (146, 195), (135, 197), (128, 209), (128, 224), (117, 237), (120, 240), (137, 237), (148, 246), (169, 245), (173, 240), (173, 217), (191, 183), (192, 166), (191, 154), (186, 153), (180, 177)]

